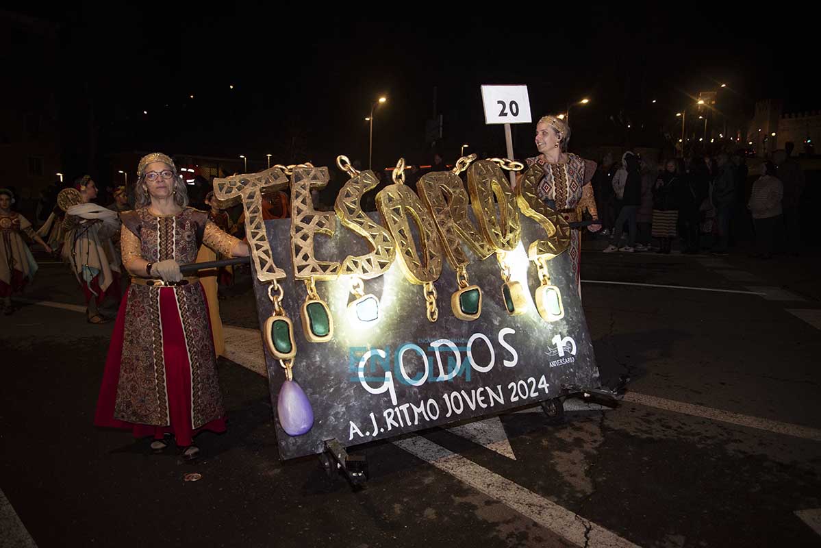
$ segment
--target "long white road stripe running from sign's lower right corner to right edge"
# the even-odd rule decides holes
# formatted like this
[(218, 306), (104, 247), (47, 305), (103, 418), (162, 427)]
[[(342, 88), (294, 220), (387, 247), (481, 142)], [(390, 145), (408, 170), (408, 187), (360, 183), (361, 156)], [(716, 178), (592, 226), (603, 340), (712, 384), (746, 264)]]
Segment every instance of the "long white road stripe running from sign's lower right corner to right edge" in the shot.
[(690, 415), (691, 417), (702, 417), (710, 419), (711, 421), (728, 422), (738, 426), (746, 426), (757, 430), (774, 432), (775, 434), (791, 435), (796, 438), (804, 438), (805, 440), (821, 441), (821, 430), (810, 428), (810, 426), (800, 426), (789, 422), (770, 421), (769, 419), (750, 417), (750, 415), (741, 415), (739, 413), (723, 411), (722, 409), (708, 408), (703, 405), (677, 402), (672, 399), (658, 398), (648, 394), (639, 394), (638, 392), (626, 393), (624, 395), (624, 401), (640, 403), (641, 405), (646, 405), (650, 408), (677, 412), (683, 415)]

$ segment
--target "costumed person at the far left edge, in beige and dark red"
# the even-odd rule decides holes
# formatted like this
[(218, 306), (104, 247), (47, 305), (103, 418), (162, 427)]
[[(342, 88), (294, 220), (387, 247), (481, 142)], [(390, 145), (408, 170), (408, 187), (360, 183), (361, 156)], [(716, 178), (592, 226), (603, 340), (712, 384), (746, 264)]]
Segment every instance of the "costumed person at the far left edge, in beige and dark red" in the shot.
[(43, 238), (34, 233), (28, 219), (11, 211), (13, 203), (14, 195), (11, 191), (0, 188), (0, 307), (6, 315), (14, 311), (11, 294), (21, 292), (37, 272), (37, 263), (31, 255), (29, 246), (23, 242), (21, 233), (39, 243), (48, 253), (52, 252), (52, 248), (43, 241)]

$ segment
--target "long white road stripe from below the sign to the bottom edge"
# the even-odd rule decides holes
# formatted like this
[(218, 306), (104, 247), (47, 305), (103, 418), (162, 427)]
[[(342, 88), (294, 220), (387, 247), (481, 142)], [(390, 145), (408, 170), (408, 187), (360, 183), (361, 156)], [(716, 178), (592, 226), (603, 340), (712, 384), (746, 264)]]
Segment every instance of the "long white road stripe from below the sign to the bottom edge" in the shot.
[(491, 472), (485, 467), (452, 453), (420, 436), (393, 442), (408, 453), (433, 464), (443, 472), (501, 501), (540, 526), (555, 532), (576, 546), (636, 546), (616, 533), (580, 517), (577, 513), (537, 495), (531, 490)]

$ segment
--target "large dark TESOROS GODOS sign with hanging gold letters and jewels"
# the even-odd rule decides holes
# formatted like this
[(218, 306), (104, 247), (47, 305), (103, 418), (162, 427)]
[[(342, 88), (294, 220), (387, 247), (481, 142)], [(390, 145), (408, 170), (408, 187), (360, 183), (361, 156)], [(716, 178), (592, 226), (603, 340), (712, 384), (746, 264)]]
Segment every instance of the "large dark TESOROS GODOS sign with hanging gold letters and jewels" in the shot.
[[(214, 181), (219, 200), (245, 207), (282, 458), (599, 385), (564, 253), (571, 227), (537, 196), (544, 168), (521, 173), (514, 191), (502, 169), (521, 163), (471, 154), (424, 175), (417, 196), (400, 159), (377, 218), (360, 207), (374, 173), (344, 156), (337, 166), (350, 180), (330, 212), (310, 200), (328, 168)], [(291, 219), (264, 222), (263, 193), (287, 187)]]

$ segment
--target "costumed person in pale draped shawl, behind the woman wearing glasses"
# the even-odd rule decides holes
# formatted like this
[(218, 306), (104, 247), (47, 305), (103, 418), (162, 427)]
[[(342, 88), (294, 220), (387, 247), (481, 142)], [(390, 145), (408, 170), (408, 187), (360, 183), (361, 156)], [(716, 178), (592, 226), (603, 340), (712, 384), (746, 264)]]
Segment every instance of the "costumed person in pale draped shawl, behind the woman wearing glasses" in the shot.
[(78, 178), (74, 188), (80, 203), (66, 210), (62, 256), (83, 289), (89, 324), (104, 324), (108, 318), (100, 314), (99, 305), (106, 297), (120, 297), (120, 258), (111, 240), (120, 229), (120, 220), (112, 210), (91, 203), (97, 197), (97, 185), (91, 177)]

